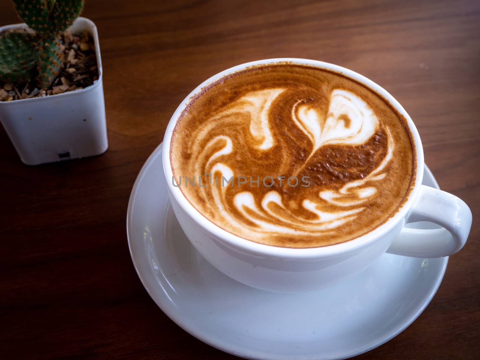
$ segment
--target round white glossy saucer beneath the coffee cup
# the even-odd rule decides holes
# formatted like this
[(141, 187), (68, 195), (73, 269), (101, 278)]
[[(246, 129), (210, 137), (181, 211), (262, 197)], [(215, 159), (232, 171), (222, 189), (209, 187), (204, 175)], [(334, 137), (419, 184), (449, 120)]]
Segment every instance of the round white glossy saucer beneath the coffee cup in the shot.
[[(168, 200), (161, 154), (159, 145), (130, 197), (133, 264), (156, 304), (215, 348), (247, 359), (346, 359), (403, 331), (442, 281), (448, 258), (385, 254), (359, 276), (315, 292), (277, 294), (240, 284), (207, 263), (183, 234)], [(427, 167), (423, 183), (438, 188)]]

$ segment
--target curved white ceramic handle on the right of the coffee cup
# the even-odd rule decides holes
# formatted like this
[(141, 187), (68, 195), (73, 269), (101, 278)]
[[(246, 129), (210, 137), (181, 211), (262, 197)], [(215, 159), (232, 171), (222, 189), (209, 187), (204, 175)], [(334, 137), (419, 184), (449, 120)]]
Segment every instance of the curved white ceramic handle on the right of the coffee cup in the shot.
[(468, 238), (472, 213), (465, 202), (448, 192), (421, 185), (405, 224), (429, 221), (443, 228), (402, 228), (388, 248), (391, 254), (435, 258), (459, 251)]

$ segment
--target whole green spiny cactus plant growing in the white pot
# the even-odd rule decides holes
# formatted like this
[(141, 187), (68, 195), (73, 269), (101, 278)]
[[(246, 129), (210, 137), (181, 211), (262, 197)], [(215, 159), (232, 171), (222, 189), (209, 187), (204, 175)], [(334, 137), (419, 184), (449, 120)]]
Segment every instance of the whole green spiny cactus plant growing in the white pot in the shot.
[(35, 33), (0, 34), (0, 81), (26, 82), (36, 74), (39, 87), (48, 87), (63, 65), (58, 36), (78, 17), (83, 0), (13, 0), (13, 3)]

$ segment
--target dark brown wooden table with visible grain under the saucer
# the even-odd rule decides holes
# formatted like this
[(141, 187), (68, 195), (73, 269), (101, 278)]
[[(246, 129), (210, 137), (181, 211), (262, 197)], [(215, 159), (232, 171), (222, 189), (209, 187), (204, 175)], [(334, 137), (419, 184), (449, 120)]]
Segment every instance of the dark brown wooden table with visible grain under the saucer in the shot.
[[(479, 1), (86, 1), (98, 26), (110, 147), (23, 165), (0, 130), (0, 358), (235, 359), (187, 334), (135, 273), (133, 182), (180, 101), (242, 62), (324, 60), (387, 89), (442, 189), (480, 218)], [(17, 23), (0, 2), (0, 25)], [(480, 226), (408, 329), (358, 359), (479, 359)], [(3, 353), (3, 355), (2, 355)]]

